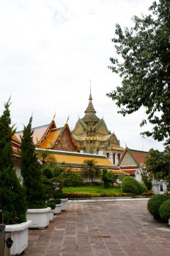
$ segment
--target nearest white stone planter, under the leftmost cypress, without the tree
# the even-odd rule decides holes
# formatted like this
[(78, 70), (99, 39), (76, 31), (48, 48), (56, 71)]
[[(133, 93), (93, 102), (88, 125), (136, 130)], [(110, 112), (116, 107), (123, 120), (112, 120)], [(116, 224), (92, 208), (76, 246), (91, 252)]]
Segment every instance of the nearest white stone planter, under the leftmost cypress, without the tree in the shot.
[(32, 224), (31, 220), (20, 224), (6, 225), (5, 232), (11, 233), (13, 245), (10, 255), (20, 255), (28, 247), (28, 228)]

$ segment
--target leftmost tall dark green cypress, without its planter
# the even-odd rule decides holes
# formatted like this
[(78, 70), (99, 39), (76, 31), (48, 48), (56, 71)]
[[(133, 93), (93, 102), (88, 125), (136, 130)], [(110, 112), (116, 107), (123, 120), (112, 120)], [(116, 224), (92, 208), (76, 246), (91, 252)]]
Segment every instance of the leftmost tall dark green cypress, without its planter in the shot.
[(24, 188), (13, 167), (11, 140), (15, 129), (11, 126), (10, 104), (9, 98), (0, 117), (0, 209), (5, 224), (17, 224), (26, 222), (27, 205)]

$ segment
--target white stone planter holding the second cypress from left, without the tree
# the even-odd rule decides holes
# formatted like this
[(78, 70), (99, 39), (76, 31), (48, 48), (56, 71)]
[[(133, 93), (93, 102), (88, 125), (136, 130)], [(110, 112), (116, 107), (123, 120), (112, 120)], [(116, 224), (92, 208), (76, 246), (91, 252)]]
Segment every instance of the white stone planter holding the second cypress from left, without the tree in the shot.
[(42, 209), (28, 209), (27, 210), (27, 219), (32, 220), (32, 225), (30, 228), (46, 228), (49, 224), (49, 212), (51, 208), (42, 208)]

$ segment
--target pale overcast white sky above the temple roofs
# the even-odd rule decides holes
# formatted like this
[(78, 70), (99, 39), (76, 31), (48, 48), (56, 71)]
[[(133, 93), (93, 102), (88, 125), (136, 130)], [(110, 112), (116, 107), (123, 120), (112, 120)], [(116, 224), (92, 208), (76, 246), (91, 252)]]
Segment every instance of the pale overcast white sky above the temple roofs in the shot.
[(163, 150), (163, 143), (140, 133), (144, 109), (122, 117), (106, 94), (121, 85), (112, 73), (115, 26), (133, 26), (132, 17), (148, 13), (151, 0), (0, 0), (0, 114), (11, 96), (11, 120), (17, 131), (33, 116), (32, 127), (55, 115), (57, 127), (69, 117), (74, 129), (91, 95), (120, 146)]

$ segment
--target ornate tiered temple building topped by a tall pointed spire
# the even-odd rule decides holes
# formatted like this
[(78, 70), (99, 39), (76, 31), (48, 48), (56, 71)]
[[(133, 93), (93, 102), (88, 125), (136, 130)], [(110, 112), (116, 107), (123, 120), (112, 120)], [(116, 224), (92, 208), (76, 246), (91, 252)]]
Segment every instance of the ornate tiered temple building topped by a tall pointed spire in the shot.
[(95, 115), (91, 90), (89, 104), (82, 119), (79, 118), (73, 129), (73, 137), (81, 153), (106, 156), (113, 164), (118, 164), (124, 152), (114, 133), (108, 131), (105, 121)]

